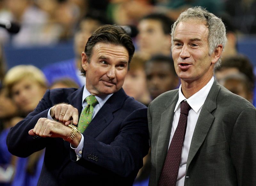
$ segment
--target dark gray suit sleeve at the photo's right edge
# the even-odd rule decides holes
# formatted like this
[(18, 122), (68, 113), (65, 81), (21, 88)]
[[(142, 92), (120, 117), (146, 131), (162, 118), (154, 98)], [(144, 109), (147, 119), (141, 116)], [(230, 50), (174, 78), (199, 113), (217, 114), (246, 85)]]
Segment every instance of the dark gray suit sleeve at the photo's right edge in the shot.
[(230, 154), (239, 186), (256, 183), (256, 110), (244, 109), (234, 125)]

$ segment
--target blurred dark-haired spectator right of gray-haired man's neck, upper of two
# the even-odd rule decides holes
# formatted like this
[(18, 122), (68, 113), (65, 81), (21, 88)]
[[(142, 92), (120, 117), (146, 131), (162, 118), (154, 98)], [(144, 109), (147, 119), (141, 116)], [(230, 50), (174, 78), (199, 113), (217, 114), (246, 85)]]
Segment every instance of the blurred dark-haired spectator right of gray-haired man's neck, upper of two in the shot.
[[(239, 72), (243, 73), (248, 78), (248, 83), (251, 89), (255, 88), (253, 65), (251, 61), (243, 55), (236, 55), (223, 59), (220, 68), (215, 69), (215, 78), (220, 81), (228, 75), (238, 74)], [(255, 97), (253, 97), (253, 104), (256, 104)]]

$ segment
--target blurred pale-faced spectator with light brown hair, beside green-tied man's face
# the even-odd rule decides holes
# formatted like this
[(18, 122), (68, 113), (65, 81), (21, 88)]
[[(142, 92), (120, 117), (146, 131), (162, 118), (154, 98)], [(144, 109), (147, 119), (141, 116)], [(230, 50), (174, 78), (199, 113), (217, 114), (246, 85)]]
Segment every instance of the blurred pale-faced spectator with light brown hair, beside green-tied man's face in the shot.
[(144, 70), (145, 60), (139, 56), (134, 56), (130, 63), (130, 69), (124, 80), (123, 89), (128, 96), (148, 105), (151, 101), (146, 82)]

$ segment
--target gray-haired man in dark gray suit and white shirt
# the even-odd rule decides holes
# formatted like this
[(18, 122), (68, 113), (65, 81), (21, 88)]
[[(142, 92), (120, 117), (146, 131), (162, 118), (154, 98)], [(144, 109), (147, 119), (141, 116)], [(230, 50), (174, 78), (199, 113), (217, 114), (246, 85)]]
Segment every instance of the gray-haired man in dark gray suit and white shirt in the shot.
[(171, 37), (181, 85), (148, 107), (149, 185), (170, 185), (160, 180), (173, 171), (164, 167), (184, 100), (191, 109), (173, 185), (256, 185), (256, 109), (213, 77), (227, 41), (224, 24), (202, 7), (189, 8), (172, 26)]

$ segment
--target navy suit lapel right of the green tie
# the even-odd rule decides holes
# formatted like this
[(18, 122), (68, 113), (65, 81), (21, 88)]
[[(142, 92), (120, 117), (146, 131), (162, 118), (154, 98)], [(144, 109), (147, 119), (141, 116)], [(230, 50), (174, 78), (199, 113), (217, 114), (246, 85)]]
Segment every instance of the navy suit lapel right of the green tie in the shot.
[(114, 93), (92, 119), (84, 134), (96, 138), (114, 119), (113, 112), (120, 109), (127, 95), (123, 89)]

